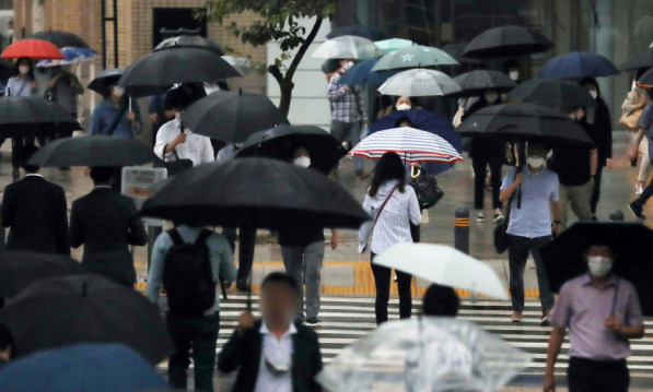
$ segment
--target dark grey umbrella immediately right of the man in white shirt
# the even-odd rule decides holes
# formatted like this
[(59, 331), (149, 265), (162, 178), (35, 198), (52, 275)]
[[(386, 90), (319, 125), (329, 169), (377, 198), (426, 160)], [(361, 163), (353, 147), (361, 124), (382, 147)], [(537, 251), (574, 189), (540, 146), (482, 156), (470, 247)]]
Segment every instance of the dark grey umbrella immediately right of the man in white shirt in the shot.
[(256, 132), (289, 123), (267, 96), (242, 91), (209, 94), (184, 110), (182, 121), (195, 133), (228, 143), (242, 143)]

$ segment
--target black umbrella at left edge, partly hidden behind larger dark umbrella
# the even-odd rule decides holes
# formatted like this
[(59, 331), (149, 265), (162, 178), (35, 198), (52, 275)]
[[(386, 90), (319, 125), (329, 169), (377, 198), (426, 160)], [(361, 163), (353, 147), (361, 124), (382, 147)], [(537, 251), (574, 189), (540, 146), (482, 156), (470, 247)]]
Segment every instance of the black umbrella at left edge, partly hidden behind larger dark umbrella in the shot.
[(10, 250), (0, 252), (0, 297), (11, 298), (32, 283), (51, 276), (89, 272), (60, 254)]

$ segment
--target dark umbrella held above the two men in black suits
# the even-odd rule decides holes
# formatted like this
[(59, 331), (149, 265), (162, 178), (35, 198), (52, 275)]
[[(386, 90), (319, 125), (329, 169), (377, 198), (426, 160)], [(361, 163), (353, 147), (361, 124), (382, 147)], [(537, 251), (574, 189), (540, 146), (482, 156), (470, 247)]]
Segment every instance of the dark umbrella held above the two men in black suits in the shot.
[(127, 138), (91, 135), (58, 139), (46, 144), (30, 159), (39, 167), (136, 166), (159, 162), (152, 149)]

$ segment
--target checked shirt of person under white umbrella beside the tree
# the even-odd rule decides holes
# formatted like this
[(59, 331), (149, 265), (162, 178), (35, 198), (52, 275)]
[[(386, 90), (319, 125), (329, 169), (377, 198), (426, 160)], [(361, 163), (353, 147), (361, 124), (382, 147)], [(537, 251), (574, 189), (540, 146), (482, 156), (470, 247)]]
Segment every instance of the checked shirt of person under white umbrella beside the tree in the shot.
[(365, 103), (363, 102), (363, 90), (361, 86), (352, 86), (346, 91), (340, 84), (341, 73), (336, 73), (329, 80), (327, 96), (331, 103), (331, 120), (342, 122), (365, 121)]

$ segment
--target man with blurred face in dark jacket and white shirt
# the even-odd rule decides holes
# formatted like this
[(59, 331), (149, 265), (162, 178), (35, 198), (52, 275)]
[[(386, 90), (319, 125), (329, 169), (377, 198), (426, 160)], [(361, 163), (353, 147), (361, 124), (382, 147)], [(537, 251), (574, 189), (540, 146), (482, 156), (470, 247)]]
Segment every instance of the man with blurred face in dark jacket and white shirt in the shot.
[(240, 367), (233, 391), (316, 392), (315, 376), (322, 370), (317, 334), (293, 322), (299, 306), (299, 287), (289, 275), (269, 274), (261, 284), (260, 312), (241, 313), (238, 328), (218, 357), (221, 371)]

